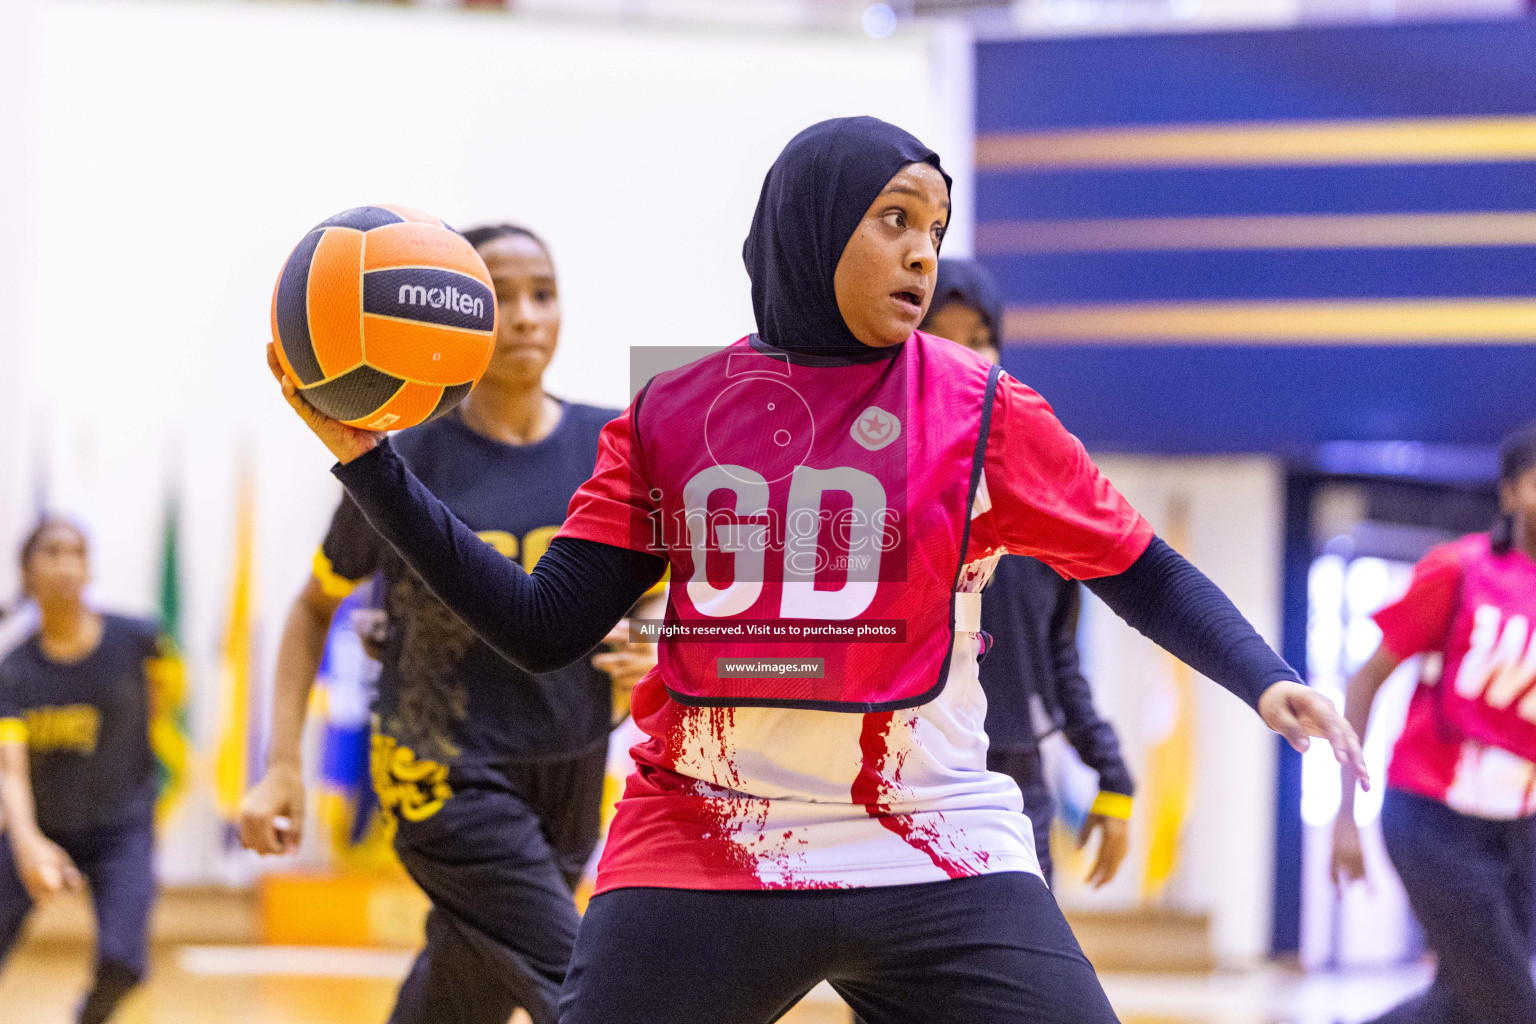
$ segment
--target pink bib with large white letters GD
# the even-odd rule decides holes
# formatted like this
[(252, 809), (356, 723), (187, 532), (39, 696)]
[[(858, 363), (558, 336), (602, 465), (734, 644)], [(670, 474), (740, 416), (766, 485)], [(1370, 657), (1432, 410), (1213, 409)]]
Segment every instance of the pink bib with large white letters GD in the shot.
[(659, 657), (673, 697), (848, 712), (932, 700), (997, 376), (923, 333), (857, 361), (743, 338), (656, 376), (636, 447), (671, 562)]

